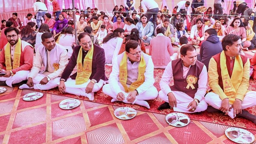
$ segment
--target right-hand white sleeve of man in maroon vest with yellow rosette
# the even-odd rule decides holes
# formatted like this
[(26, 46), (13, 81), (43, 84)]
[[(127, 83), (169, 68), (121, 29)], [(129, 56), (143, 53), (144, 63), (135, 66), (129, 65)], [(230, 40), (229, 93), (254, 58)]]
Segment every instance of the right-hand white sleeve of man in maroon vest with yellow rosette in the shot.
[(199, 80), (198, 80), (198, 89), (197, 92), (195, 93), (194, 99), (198, 99), (201, 101), (204, 98), (204, 95), (206, 94), (207, 90), (207, 82), (208, 82), (208, 75), (207, 75), (207, 69), (206, 66), (203, 66), (202, 72), (199, 75)]

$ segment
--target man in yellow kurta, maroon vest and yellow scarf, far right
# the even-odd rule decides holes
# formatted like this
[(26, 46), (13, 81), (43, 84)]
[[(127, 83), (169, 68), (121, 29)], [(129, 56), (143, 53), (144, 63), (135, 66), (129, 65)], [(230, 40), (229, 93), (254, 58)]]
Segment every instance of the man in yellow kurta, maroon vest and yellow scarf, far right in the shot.
[(222, 48), (223, 51), (213, 56), (209, 63), (212, 90), (205, 96), (205, 101), (211, 105), (207, 110), (222, 111), (232, 119), (241, 116), (256, 124), (256, 116), (244, 110), (256, 105), (256, 92), (248, 90), (250, 61), (241, 55), (241, 37), (226, 35)]

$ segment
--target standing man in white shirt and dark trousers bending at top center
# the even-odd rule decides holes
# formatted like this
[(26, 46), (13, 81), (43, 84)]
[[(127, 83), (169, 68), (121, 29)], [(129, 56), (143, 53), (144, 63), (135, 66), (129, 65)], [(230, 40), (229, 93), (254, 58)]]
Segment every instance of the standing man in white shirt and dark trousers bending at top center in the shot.
[(154, 30), (156, 28), (156, 18), (158, 13), (158, 4), (154, 0), (140, 0), (141, 7), (144, 9), (148, 20), (153, 16), (152, 23), (154, 24)]

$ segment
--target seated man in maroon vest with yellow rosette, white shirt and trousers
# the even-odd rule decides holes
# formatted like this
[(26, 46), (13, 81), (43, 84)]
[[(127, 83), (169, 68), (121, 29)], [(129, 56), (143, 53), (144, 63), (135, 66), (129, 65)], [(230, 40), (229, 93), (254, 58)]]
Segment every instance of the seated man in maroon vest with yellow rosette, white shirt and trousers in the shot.
[[(197, 61), (193, 45), (181, 47), (181, 58), (172, 60), (160, 81), (159, 98), (165, 101), (158, 109), (173, 108), (177, 112), (194, 113), (207, 109), (204, 95), (207, 90), (207, 70)], [(173, 77), (174, 85), (169, 86)]]

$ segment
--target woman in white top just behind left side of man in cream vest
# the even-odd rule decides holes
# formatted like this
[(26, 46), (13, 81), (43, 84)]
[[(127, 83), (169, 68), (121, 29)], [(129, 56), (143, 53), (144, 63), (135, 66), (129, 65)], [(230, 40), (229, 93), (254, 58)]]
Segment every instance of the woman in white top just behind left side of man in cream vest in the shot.
[(45, 32), (51, 32), (51, 31), (49, 29), (48, 24), (42, 23), (40, 25), (39, 31), (38, 31), (37, 36), (36, 36), (35, 52), (37, 51), (37, 49), (39, 47), (43, 46), (41, 36)]

